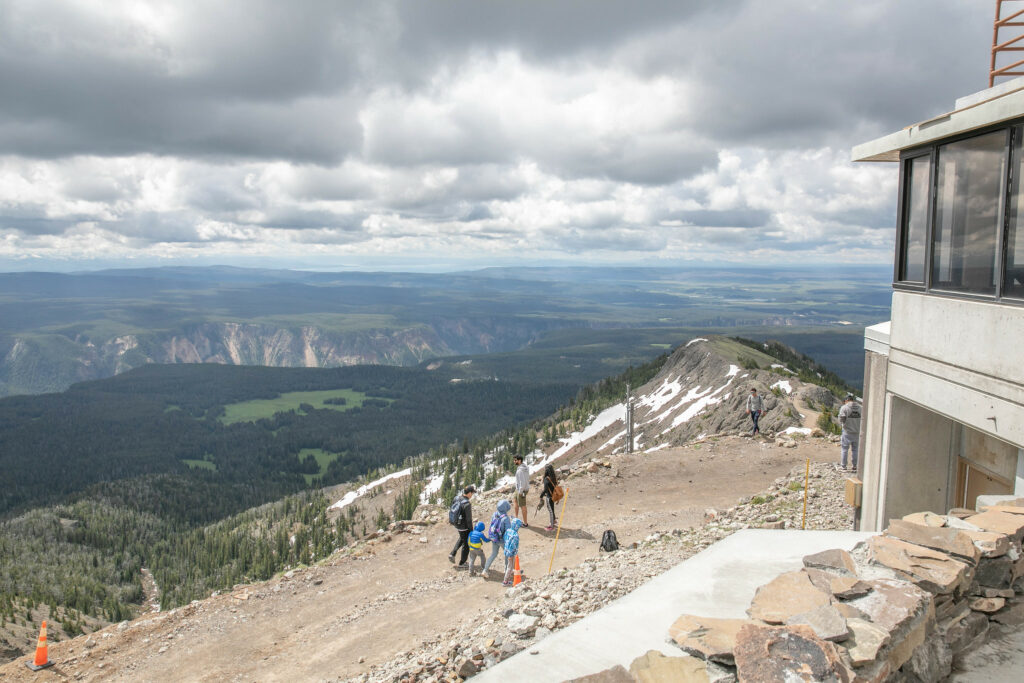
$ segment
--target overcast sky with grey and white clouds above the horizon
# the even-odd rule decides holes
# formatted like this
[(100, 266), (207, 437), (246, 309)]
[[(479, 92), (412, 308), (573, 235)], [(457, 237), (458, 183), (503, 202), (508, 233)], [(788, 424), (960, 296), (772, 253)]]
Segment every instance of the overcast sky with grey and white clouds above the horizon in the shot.
[(892, 260), (980, 0), (0, 0), (0, 269)]

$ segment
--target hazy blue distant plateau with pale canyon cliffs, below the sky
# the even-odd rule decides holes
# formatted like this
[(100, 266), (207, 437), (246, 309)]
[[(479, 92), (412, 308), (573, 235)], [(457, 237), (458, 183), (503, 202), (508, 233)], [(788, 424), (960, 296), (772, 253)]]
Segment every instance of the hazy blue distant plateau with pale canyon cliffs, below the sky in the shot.
[[(656, 341), (640, 335), (633, 355), (643, 359), (684, 330), (859, 333), (888, 318), (889, 300), (879, 268), (0, 273), (0, 395), (59, 391), (146, 364), (409, 366), (532, 348), (554, 331), (574, 331), (561, 338), (568, 347), (592, 331), (662, 331)], [(850, 378), (859, 382), (859, 371)]]

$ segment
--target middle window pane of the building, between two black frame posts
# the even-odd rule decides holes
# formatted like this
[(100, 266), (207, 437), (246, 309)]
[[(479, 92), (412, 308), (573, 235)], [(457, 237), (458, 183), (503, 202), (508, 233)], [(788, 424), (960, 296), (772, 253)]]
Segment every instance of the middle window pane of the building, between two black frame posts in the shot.
[(1006, 131), (939, 147), (932, 287), (995, 294)]

